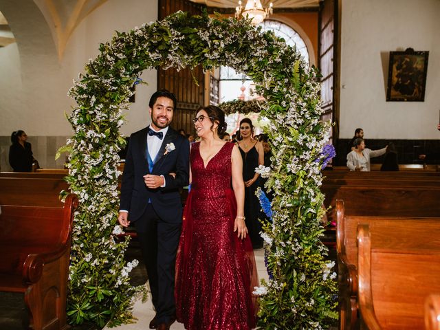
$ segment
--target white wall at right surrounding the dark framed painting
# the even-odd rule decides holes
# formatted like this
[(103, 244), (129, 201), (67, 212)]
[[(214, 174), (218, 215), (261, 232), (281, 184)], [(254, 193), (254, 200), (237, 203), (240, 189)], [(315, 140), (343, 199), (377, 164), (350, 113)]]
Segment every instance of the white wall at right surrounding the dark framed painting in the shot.
[[(342, 0), (340, 138), (439, 139), (440, 1)], [(386, 102), (388, 52), (429, 51), (424, 102)]]

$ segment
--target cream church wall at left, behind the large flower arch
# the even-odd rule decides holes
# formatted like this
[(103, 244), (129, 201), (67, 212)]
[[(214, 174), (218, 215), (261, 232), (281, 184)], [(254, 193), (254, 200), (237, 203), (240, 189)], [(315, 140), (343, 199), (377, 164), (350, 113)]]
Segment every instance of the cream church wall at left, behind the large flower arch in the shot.
[[(34, 157), (42, 167), (63, 167), (64, 159), (55, 162), (54, 155), (73, 134), (65, 119), (65, 113), (70, 113), (75, 104), (67, 96), (72, 79), (78, 78), (89, 58), (99, 54), (99, 43), (110, 41), (115, 30), (127, 31), (156, 21), (157, 1), (104, 2), (78, 24), (61, 58), (56, 54), (55, 38), (41, 12), (32, 13), (39, 23), (32, 29), (26, 28), (32, 19), (7, 13), (8, 10), (3, 12), (17, 43), (0, 48), (0, 168), (10, 170), (10, 134), (17, 129), (28, 133)], [(24, 30), (26, 33), (22, 33)], [(148, 99), (157, 86), (156, 71), (148, 70), (141, 78), (148, 86), (136, 86), (135, 102), (131, 103), (126, 124), (122, 126), (125, 135), (142, 129), (149, 121)]]

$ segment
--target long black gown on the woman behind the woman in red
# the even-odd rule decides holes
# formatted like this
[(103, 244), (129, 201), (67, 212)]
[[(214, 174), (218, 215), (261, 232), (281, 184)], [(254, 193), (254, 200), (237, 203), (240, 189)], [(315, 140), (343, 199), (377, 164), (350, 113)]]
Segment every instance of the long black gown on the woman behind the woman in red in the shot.
[[(255, 168), (259, 167), (259, 152), (256, 151), (255, 144), (245, 153), (239, 146), (241, 157), (243, 158), (243, 181), (249, 181), (255, 175)], [(260, 236), (261, 222), (264, 219), (259, 198), (256, 197), (256, 188), (261, 187), (261, 177), (249, 187), (245, 187), (245, 223), (249, 230), (250, 240), (254, 248), (263, 247), (263, 239)]]

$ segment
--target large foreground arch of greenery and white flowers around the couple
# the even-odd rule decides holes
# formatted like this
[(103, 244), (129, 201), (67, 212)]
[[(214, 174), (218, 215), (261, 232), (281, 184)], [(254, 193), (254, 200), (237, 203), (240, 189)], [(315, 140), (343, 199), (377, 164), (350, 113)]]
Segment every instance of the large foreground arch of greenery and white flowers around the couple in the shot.
[[(128, 109), (131, 86), (142, 71), (157, 67), (211, 69), (228, 65), (250, 76), (265, 98), (261, 115), (274, 162), (264, 169), (274, 191), (272, 223), (264, 228), (267, 262), (273, 278), (256, 289), (261, 294), (263, 329), (323, 329), (334, 316), (335, 273), (326, 263), (320, 241), (323, 195), (322, 154), (329, 125), (322, 109), (316, 72), (300, 54), (272, 32), (262, 33), (249, 20), (190, 16), (177, 12), (144, 24), (100, 45), (100, 55), (69, 94), (77, 106), (69, 122), (75, 135), (69, 151), (70, 189), (80, 200), (75, 214), (69, 269), (68, 315), (72, 323), (93, 320), (103, 325), (130, 322), (133, 296), (123, 254), (128, 240), (118, 241), (119, 129)], [(276, 162), (275, 162), (276, 159)]]

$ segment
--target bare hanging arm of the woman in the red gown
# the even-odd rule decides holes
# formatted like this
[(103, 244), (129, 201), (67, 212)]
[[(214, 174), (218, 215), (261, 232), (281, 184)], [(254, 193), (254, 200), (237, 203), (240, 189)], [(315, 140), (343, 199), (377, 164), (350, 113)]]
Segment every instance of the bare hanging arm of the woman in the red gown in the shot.
[(241, 239), (248, 234), (248, 228), (245, 225), (245, 185), (243, 183), (243, 159), (239, 148), (234, 146), (232, 148), (232, 188), (234, 189), (234, 195), (236, 200), (236, 218), (234, 222), (234, 232), (237, 232), (237, 236)]

